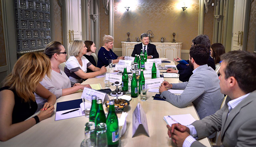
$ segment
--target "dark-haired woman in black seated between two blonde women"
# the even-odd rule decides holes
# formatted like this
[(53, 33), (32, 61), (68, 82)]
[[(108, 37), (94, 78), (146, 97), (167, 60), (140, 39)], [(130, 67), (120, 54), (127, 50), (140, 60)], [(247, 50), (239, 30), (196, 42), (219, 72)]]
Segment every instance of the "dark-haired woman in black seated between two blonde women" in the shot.
[[(84, 41), (84, 44), (85, 44), (85, 47), (87, 48), (87, 53), (84, 54), (85, 58), (88, 59), (91, 62), (91, 64), (93, 64), (96, 67), (96, 62), (94, 60), (94, 57), (91, 55), (92, 53), (95, 53), (96, 49), (97, 49), (95, 47), (94, 42)], [(91, 72), (93, 72), (93, 71), (90, 69), (87, 69), (87, 73), (91, 73)]]

